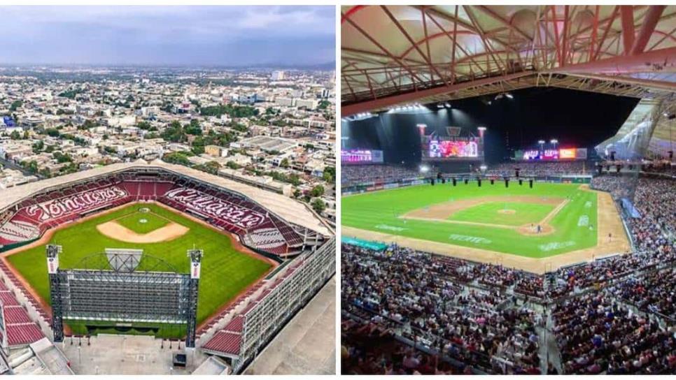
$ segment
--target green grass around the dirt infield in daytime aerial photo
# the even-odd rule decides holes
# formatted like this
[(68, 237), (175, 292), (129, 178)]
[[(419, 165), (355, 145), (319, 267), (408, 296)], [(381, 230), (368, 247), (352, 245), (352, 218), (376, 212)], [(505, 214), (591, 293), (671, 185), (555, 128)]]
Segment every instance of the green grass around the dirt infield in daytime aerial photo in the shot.
[[(194, 244), (195, 247), (204, 249), (197, 305), (199, 323), (216, 312), (221, 305), (232, 300), (244, 288), (260, 279), (271, 266), (266, 261), (234, 249), (227, 235), (213, 231), (211, 228), (206, 228), (157, 205), (143, 205), (142, 207), (148, 207), (158, 217), (182, 224), (190, 228), (190, 231), (170, 242), (152, 244), (120, 242), (101, 235), (97, 231), (96, 226), (106, 221), (139, 215), (140, 207), (129, 205), (110, 214), (57, 231), (52, 236), (50, 244), (63, 246), (63, 252), (59, 255), (60, 268), (78, 268), (77, 265), (82, 258), (103, 253), (106, 248), (132, 248), (143, 249), (143, 254), (162, 258), (174, 265), (178, 272), (188, 273), (190, 261), (186, 256), (186, 251), (192, 249)], [(143, 214), (143, 217), (147, 216), (148, 214)], [(8, 261), (27, 279), (43, 300), (50, 302), (45, 245), (8, 256)], [(142, 266), (143, 259), (139, 264), (139, 267)]]

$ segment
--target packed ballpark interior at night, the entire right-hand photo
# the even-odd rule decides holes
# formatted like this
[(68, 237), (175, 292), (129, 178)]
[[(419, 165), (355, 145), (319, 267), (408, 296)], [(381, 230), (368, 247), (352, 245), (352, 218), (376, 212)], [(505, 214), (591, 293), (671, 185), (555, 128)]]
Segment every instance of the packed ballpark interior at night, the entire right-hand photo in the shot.
[(673, 15), (341, 7), (342, 374), (676, 374)]

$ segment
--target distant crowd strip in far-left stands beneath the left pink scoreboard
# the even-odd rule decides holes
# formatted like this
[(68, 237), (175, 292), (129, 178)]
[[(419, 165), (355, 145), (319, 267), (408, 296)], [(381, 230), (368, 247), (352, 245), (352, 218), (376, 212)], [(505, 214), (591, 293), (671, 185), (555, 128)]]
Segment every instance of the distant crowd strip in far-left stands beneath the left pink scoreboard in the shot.
[(343, 165), (340, 173), (342, 186), (361, 182), (395, 182), (423, 176), (418, 168), (390, 164)]

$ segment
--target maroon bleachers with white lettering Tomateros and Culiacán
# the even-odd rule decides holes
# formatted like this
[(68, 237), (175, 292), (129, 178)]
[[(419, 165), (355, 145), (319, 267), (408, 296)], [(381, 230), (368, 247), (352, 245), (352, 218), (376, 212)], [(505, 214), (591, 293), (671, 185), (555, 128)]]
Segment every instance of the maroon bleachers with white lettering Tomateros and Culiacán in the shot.
[(40, 238), (87, 214), (130, 202), (157, 201), (239, 236), (252, 249), (294, 256), (321, 243), (308, 228), (284, 221), (255, 201), (220, 187), (170, 173), (133, 170), (50, 189), (0, 214), (0, 248)]

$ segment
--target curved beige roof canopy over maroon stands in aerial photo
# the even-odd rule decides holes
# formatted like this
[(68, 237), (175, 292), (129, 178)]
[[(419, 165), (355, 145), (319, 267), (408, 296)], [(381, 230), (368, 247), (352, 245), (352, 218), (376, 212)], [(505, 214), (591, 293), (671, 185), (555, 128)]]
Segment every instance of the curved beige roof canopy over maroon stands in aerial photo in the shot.
[(18, 203), (24, 198), (50, 187), (58, 187), (71, 182), (86, 180), (90, 177), (115, 173), (131, 168), (163, 168), (165, 170), (173, 171), (174, 173), (215, 184), (216, 186), (225, 187), (225, 189), (237, 191), (244, 196), (255, 200), (263, 207), (266, 207), (268, 210), (291, 223), (309, 228), (322, 235), (333, 235), (321, 219), (316, 217), (315, 214), (309, 211), (308, 207), (297, 200), (293, 200), (278, 193), (273, 193), (272, 191), (265, 191), (248, 184), (228, 180), (227, 178), (218, 177), (185, 166), (165, 163), (160, 160), (155, 160), (152, 163), (146, 163), (143, 160), (133, 163), (113, 163), (112, 165), (101, 166), (100, 168), (93, 168), (60, 177), (48, 178), (47, 180), (31, 182), (17, 187), (10, 187), (9, 189), (3, 189), (2, 196), (0, 197), (0, 210), (4, 210), (6, 207)]

